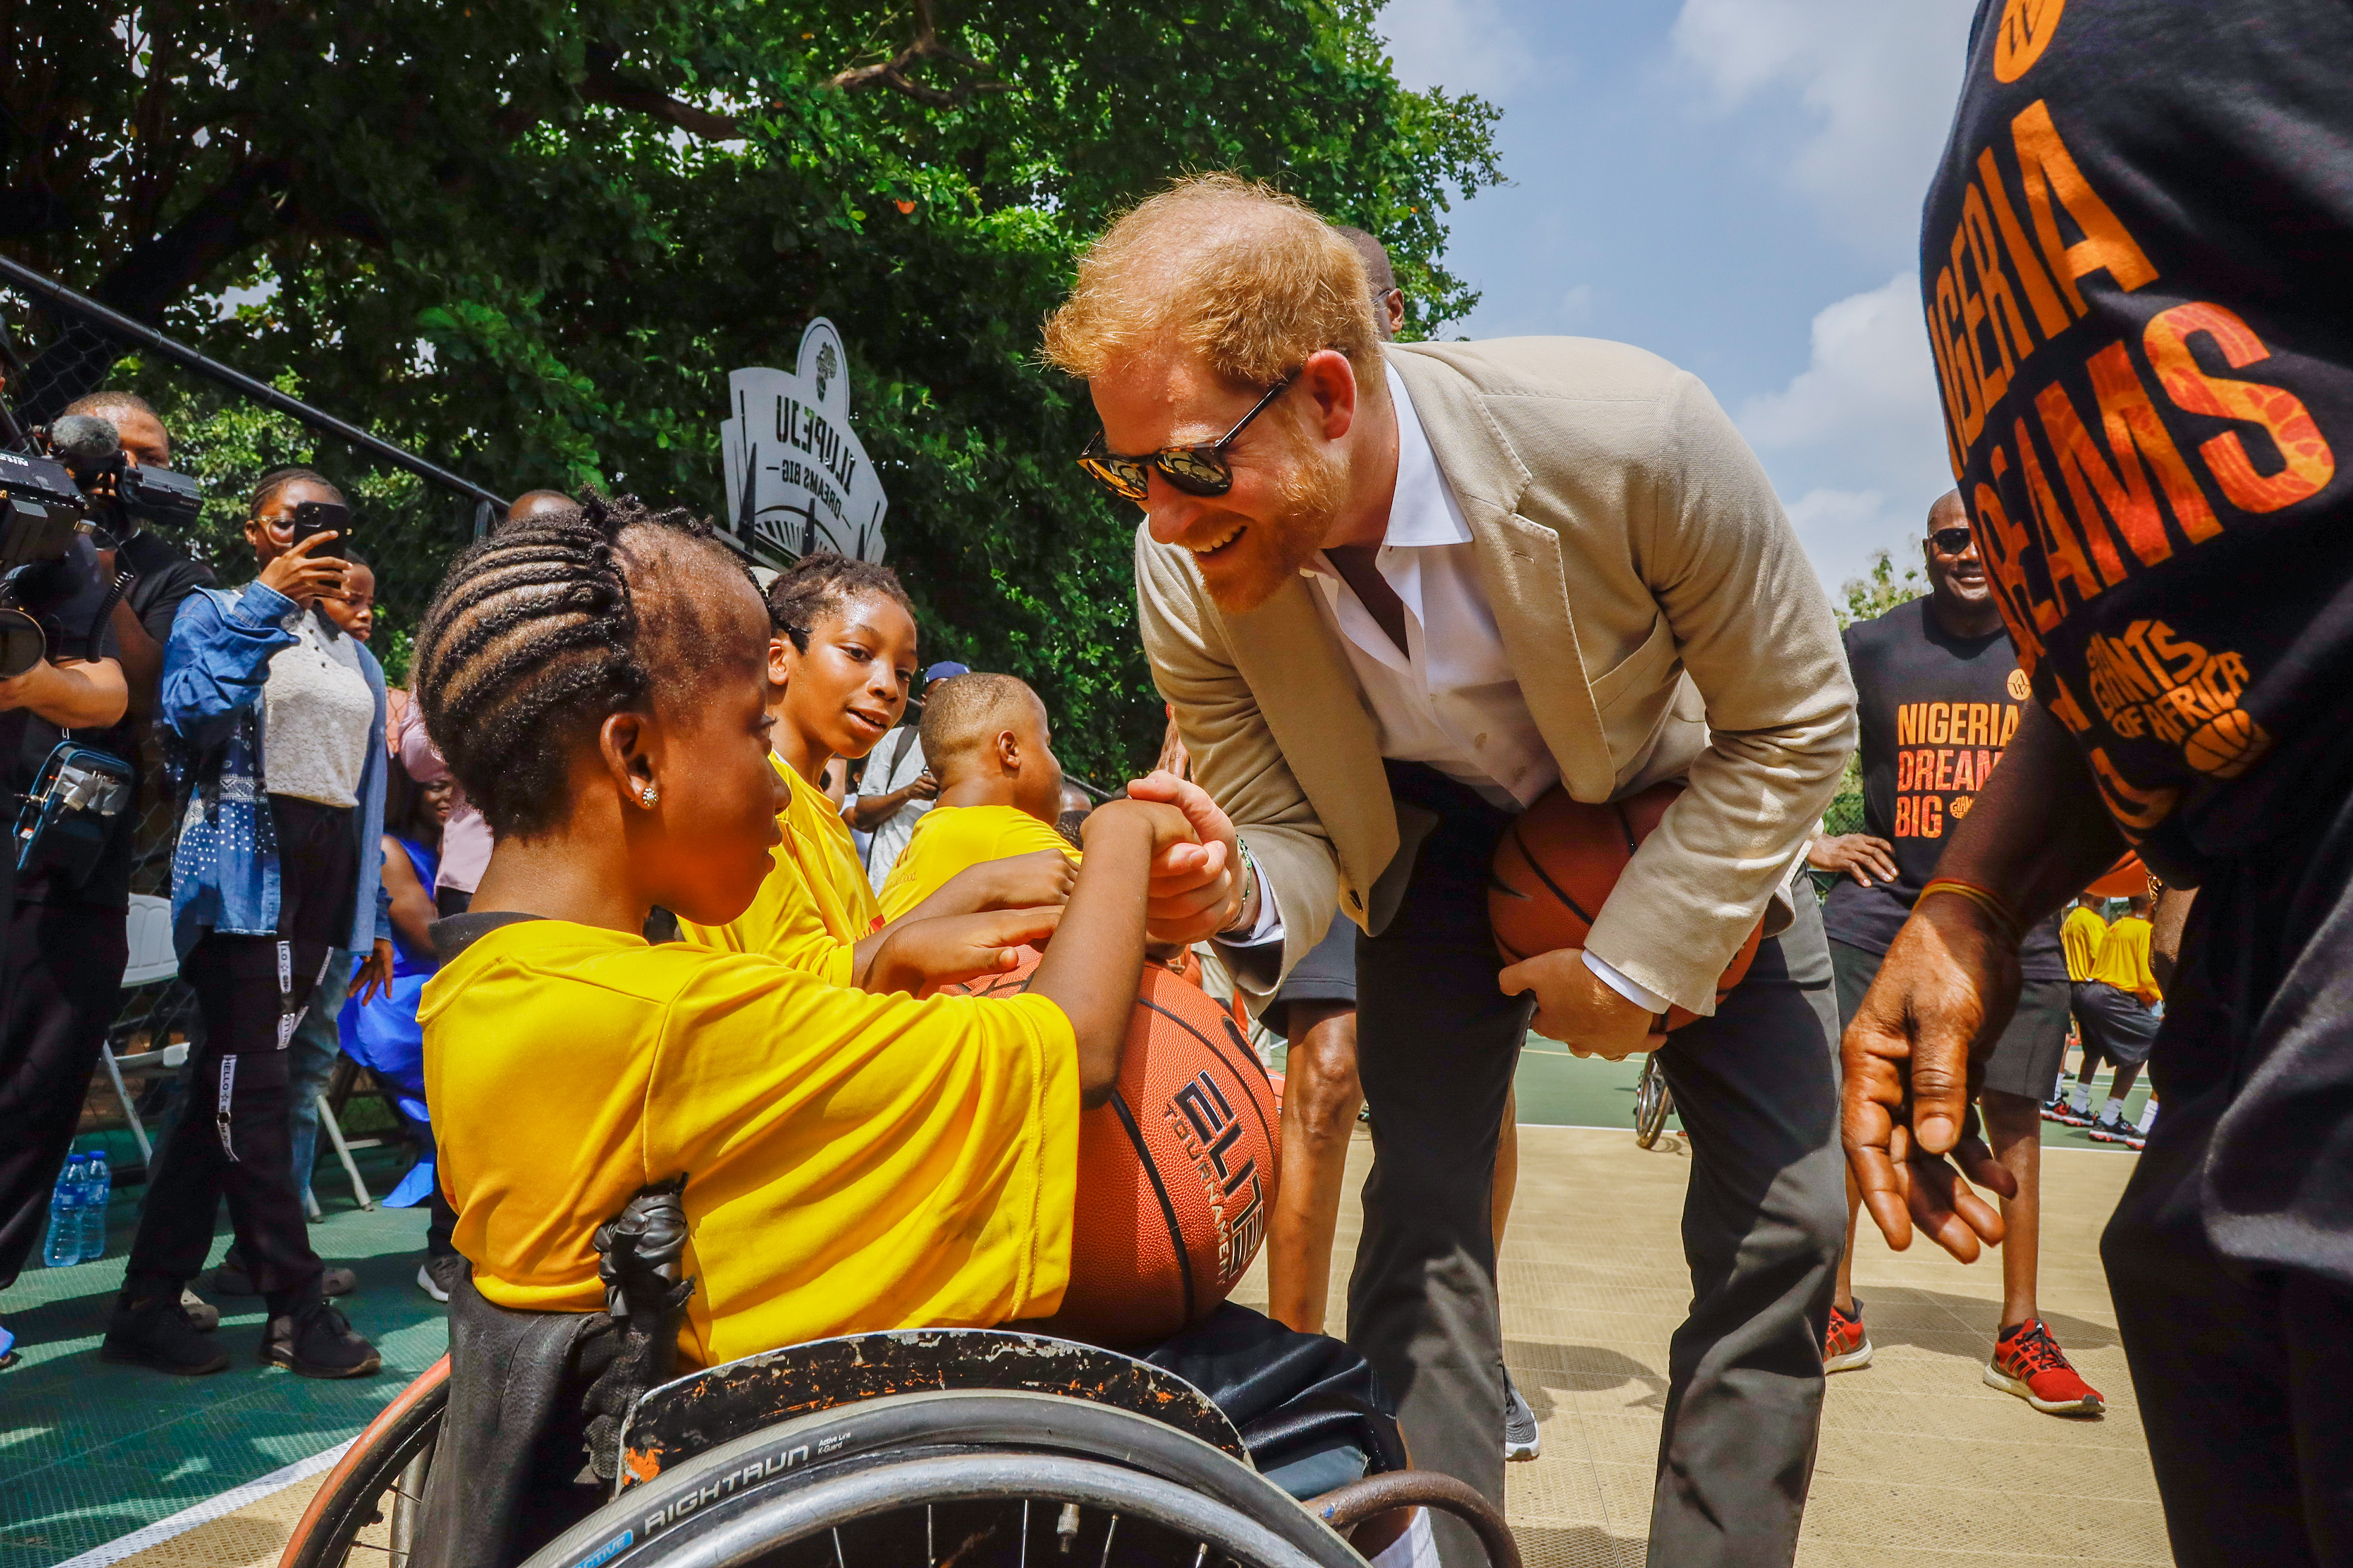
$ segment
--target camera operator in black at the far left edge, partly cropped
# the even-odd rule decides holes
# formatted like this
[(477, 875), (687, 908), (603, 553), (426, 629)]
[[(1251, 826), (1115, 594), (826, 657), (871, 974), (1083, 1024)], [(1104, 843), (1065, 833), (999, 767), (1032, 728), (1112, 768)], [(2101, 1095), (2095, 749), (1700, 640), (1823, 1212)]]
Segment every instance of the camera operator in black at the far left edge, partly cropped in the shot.
[[(87, 534), (64, 555), (28, 567), (16, 602), (40, 625), (42, 651), (14, 679), (0, 679), (0, 820), (12, 832), (0, 853), (7, 950), (0, 957), (0, 1288), (16, 1281), (49, 1215), (49, 1187), (80, 1126), (82, 1091), (122, 985), (127, 849), (106, 844), (96, 867), (33, 863), (14, 875), (14, 832), (26, 797), (42, 783), (61, 741), (106, 748), (94, 736), (120, 724), (129, 701), (108, 625), (108, 583)], [(127, 837), (118, 809), (113, 839)], [(111, 867), (120, 858), (122, 877)], [(80, 872), (80, 875), (78, 875)], [(0, 1366), (14, 1359), (0, 1328)]]

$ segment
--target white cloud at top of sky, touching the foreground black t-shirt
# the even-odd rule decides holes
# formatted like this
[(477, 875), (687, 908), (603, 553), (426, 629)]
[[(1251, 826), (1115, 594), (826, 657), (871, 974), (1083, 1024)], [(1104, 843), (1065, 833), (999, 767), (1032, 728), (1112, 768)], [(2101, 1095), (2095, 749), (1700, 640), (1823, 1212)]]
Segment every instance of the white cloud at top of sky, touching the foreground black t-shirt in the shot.
[(1675, 54), (1732, 113), (1777, 92), (1814, 122), (1788, 179), (1852, 242), (1904, 254), (1960, 96), (1974, 0), (1685, 0)]

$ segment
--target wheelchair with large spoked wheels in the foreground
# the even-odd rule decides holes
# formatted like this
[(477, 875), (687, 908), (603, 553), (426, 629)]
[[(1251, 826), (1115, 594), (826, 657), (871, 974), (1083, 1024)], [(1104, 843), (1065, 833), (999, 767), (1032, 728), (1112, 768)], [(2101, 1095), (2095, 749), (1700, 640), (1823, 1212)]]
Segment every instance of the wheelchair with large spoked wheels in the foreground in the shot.
[[(621, 1319), (626, 1274), (605, 1274)], [(640, 1345), (666, 1354), (685, 1288), (671, 1274), (633, 1293)], [(452, 1331), (459, 1363), (473, 1356), (475, 1375), (487, 1375), (480, 1340), (468, 1349), (456, 1321)], [(464, 1392), (442, 1356), (353, 1439), (280, 1568), (485, 1561), (431, 1540), (433, 1528), (468, 1528), (452, 1505), (461, 1493), (449, 1490), (466, 1474), (447, 1474), (464, 1467), (435, 1472), (454, 1389)], [(1207, 1394), (1113, 1349), (1019, 1328), (816, 1340), (635, 1392), (607, 1439), (612, 1481), (593, 1512), (494, 1559), (496, 1568), (1362, 1568), (1348, 1533), (1424, 1507), (1464, 1519), (1492, 1568), (1520, 1568), (1485, 1497), (1452, 1476), (1395, 1467), (1393, 1425), (1384, 1436), (1334, 1410), (1287, 1420), (1320, 1429), (1311, 1458), (1261, 1472)], [(1261, 1455), (1301, 1453), (1285, 1448), (1282, 1425), (1252, 1422)], [(1377, 1474), (1355, 1479), (1362, 1469)]]

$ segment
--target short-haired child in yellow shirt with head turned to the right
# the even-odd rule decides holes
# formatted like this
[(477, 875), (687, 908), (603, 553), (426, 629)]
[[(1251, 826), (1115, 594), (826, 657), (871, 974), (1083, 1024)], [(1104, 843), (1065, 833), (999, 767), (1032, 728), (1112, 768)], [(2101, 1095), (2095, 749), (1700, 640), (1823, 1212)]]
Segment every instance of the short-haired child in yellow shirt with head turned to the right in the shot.
[(1009, 856), (1078, 851), (1061, 816), (1061, 762), (1045, 703), (1012, 675), (958, 675), (922, 705), (922, 755), (939, 799), (882, 882), (882, 919), (901, 919), (958, 877)]

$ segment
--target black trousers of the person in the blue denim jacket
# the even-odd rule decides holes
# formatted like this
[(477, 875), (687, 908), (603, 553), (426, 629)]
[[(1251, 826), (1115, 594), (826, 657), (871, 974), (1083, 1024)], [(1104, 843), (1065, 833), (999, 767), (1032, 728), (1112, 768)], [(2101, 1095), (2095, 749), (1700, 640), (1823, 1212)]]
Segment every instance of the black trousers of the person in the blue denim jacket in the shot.
[(271, 1312), (320, 1288), (294, 1185), (289, 1058), (285, 1051), (327, 945), (275, 936), (207, 933), (181, 976), (205, 1013), (205, 1051), (188, 1065), (188, 1105), (165, 1145), (139, 1213), (129, 1274), (188, 1284), (212, 1251), (212, 1220), (228, 1199), (238, 1260)]

